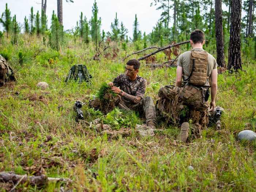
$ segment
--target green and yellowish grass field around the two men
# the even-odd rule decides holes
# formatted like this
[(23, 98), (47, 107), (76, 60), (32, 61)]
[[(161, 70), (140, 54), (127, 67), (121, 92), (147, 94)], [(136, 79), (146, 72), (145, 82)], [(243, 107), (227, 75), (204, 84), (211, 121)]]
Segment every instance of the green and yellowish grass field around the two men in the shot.
[[(22, 39), (29, 39), (24, 37)], [(17, 82), (0, 88), (0, 171), (16, 174), (70, 178), (72, 182), (51, 182), (42, 187), (22, 184), (18, 191), (255, 191), (256, 143), (239, 142), (240, 130), (256, 129), (256, 62), (243, 64), (245, 71), (218, 76), (216, 104), (225, 109), (222, 128), (209, 127), (202, 138), (189, 143), (174, 142), (178, 127), (159, 124), (153, 137), (135, 132), (138, 114), (115, 110), (106, 117), (83, 106), (86, 121), (101, 117), (114, 129), (128, 127), (128, 136), (100, 134), (85, 123), (76, 123), (73, 105), (87, 103), (103, 82), (124, 72), (126, 55), (91, 60), (92, 45), (72, 39), (56, 52), (33, 38), (20, 39), (19, 46), (0, 45), (0, 54), (9, 57)], [(183, 49), (184, 48), (184, 49)], [(181, 46), (184, 51), (186, 46)], [(133, 52), (128, 45), (128, 53)], [(24, 63), (18, 63), (22, 52)], [(113, 49), (107, 50), (112, 54)], [(159, 53), (157, 60), (165, 61)], [(215, 55), (214, 55), (215, 56)], [(134, 56), (138, 58), (139, 56)], [(131, 57), (132, 58), (132, 57)], [(92, 84), (66, 84), (73, 64), (86, 64)], [(148, 82), (146, 95), (158, 99), (158, 90), (173, 84), (176, 68), (151, 70), (142, 66), (140, 76)], [(38, 82), (47, 82), (41, 90)], [(46, 137), (52, 140), (46, 142)], [(0, 191), (12, 184), (0, 183)]]

